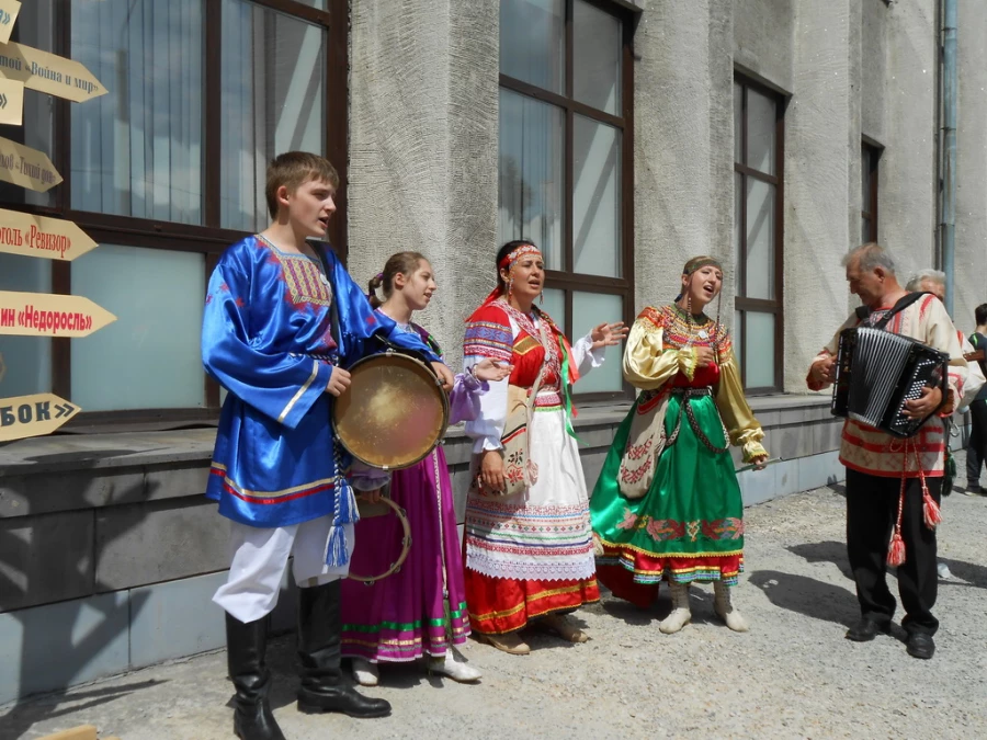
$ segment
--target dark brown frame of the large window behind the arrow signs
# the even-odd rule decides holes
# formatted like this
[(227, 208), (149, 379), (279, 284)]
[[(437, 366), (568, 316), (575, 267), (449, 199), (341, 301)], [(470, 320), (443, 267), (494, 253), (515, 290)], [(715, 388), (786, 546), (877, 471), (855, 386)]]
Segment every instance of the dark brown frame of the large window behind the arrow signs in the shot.
[[(345, 261), (347, 243), (347, 145), (349, 125), (349, 103), (342, 112), (336, 110), (338, 101), (349, 101), (349, 1), (327, 0), (326, 10), (307, 5), (298, 0), (241, 0), (262, 9), (288, 15), (321, 26), (326, 33), (326, 91), (325, 91), (325, 156), (339, 173), (339, 190), (336, 194), (337, 212), (329, 224), (329, 239), (337, 253)], [(223, 7), (216, 0), (201, 0), (203, 13), (203, 224), (190, 225), (132, 216), (120, 216), (98, 212), (78, 210), (71, 206), (71, 112), (68, 100), (52, 98), (53, 136), (52, 155), (55, 168), (63, 175), (63, 182), (54, 190), (54, 204), (33, 204), (0, 200), (0, 207), (38, 216), (64, 218), (73, 221), (98, 243), (113, 243), (125, 247), (177, 250), (194, 252), (204, 257), (205, 277), (208, 281), (219, 255), (231, 243), (250, 235), (250, 231), (226, 229), (219, 226), (219, 183), (222, 167), (220, 102), (222, 68), (217, 55), (211, 49), (223, 43)], [(56, 1), (50, 23), (54, 24), (53, 53), (71, 56), (71, 0)], [(14, 27), (12, 41), (19, 38)], [(84, 104), (84, 103), (81, 103)], [(0, 126), (0, 135), (14, 140), (22, 137), (23, 127)], [(52, 261), (50, 293), (71, 294), (71, 263)], [(200, 299), (204, 299), (201, 296)], [(71, 399), (71, 339), (52, 340), (52, 392)], [(203, 373), (203, 406), (201, 408), (132, 409), (120, 411), (82, 411), (63, 430), (81, 431), (95, 426), (105, 430), (109, 425), (125, 424), (128, 428), (148, 428), (180, 422), (215, 422), (219, 417), (219, 385)]]

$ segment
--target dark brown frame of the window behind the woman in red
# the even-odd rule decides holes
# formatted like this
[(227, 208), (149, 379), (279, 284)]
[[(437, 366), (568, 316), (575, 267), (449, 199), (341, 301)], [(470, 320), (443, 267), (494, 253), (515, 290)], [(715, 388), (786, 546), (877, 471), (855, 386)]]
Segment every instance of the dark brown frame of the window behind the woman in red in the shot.
[[(519, 80), (499, 72), (499, 88), (510, 90), (527, 98), (548, 103), (561, 109), (565, 114), (564, 129), (564, 162), (563, 177), (565, 178), (565, 197), (563, 198), (563, 269), (546, 270), (545, 284), (547, 288), (563, 291), (565, 295), (565, 322), (563, 330), (566, 337), (572, 335), (572, 296), (578, 292), (617, 295), (623, 299), (623, 321), (631, 326), (634, 321), (634, 21), (635, 13), (616, 0), (581, 0), (599, 10), (616, 18), (621, 23), (621, 113), (616, 116), (595, 109), (575, 99), (575, 0), (564, 0), (565, 9), (565, 94), (559, 94), (531, 82)], [(498, 59), (499, 65), (499, 59)], [(582, 115), (591, 121), (604, 123), (621, 132), (621, 243), (619, 247), (621, 259), (621, 274), (623, 277), (606, 277), (603, 275), (589, 275), (574, 271), (576, 253), (574, 241), (574, 208), (575, 194), (575, 127), (576, 115)], [(587, 401), (613, 401), (633, 398), (634, 389), (622, 380), (621, 390), (577, 392), (575, 397), (580, 402)]]

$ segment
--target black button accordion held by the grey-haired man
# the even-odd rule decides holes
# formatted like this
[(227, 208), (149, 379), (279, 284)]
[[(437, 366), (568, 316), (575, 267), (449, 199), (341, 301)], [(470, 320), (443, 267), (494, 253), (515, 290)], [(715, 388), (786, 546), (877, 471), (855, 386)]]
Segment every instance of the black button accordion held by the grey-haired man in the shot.
[(872, 327), (844, 329), (832, 413), (898, 437), (911, 436), (929, 417), (906, 417), (905, 401), (919, 398), (926, 386), (939, 386), (945, 399), (949, 362), (944, 352), (909, 337)]

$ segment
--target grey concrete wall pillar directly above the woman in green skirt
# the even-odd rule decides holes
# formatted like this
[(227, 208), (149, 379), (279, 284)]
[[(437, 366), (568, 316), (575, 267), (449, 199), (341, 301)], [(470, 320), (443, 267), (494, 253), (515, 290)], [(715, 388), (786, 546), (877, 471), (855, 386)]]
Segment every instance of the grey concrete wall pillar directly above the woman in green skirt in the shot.
[(681, 265), (723, 259), (733, 316), (733, 14), (724, 0), (651, 0), (634, 39), (635, 304), (669, 303)]

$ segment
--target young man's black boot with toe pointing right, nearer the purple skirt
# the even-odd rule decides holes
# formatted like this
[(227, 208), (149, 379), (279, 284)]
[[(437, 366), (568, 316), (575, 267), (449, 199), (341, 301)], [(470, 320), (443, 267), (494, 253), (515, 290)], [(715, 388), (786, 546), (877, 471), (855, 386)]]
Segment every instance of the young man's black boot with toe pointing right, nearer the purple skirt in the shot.
[(298, 710), (341, 711), (350, 717), (386, 717), (390, 704), (358, 694), (343, 683), (340, 667), (340, 582), (298, 589)]

